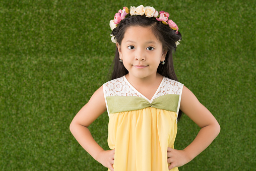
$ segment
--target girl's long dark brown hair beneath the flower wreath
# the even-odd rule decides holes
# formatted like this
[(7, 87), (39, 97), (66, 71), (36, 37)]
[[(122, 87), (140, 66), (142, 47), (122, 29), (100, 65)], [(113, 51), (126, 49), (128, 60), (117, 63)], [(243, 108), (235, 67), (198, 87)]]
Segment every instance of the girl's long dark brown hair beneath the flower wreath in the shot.
[[(124, 33), (127, 28), (132, 26), (142, 26), (142, 27), (151, 27), (153, 33), (157, 39), (162, 42), (163, 49), (167, 50), (165, 57), (165, 64), (159, 65), (157, 72), (167, 78), (178, 81), (177, 76), (174, 72), (174, 66), (172, 61), (172, 53), (176, 51), (175, 42), (181, 40), (181, 34), (175, 33), (175, 30), (172, 30), (168, 25), (164, 25), (162, 22), (156, 20), (156, 18), (145, 17), (145, 16), (128, 16), (123, 19), (116, 28), (113, 29), (112, 35), (115, 36), (117, 42), (121, 45), (121, 41), (124, 37)], [(112, 75), (111, 80), (122, 77), (128, 74), (128, 71), (125, 69), (122, 63), (119, 62), (119, 53), (118, 48), (115, 50), (115, 57), (112, 63)], [(182, 115), (182, 111), (179, 110), (178, 120)]]

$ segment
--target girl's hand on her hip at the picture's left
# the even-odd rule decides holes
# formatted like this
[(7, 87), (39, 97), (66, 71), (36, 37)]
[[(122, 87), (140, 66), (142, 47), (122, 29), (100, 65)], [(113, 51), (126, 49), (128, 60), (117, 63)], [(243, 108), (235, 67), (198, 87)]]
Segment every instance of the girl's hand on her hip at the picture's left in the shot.
[(99, 161), (103, 166), (109, 168), (111, 171), (114, 171), (114, 168), (113, 168), (114, 156), (115, 156), (115, 149), (101, 151), (97, 157), (97, 161)]

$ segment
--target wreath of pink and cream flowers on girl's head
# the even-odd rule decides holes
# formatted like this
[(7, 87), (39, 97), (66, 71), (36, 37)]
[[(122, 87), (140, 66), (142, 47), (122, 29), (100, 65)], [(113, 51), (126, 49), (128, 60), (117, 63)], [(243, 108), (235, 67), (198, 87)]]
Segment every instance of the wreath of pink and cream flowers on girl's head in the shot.
[[(110, 20), (109, 25), (111, 30), (113, 30), (114, 28), (117, 27), (117, 25), (121, 22), (121, 20), (123, 20), (127, 15), (129, 14), (129, 9), (127, 7), (123, 7), (123, 10), (119, 10), (118, 13), (115, 13), (115, 17), (114, 20)], [(164, 11), (160, 11), (158, 13), (158, 11), (156, 11), (154, 9), (154, 7), (144, 7), (143, 5), (135, 8), (131, 6), (130, 9), (130, 15), (141, 15), (141, 16), (146, 16), (146, 17), (155, 17), (157, 21), (162, 22), (164, 25), (168, 25), (172, 30), (176, 30), (176, 34), (178, 34), (178, 26), (176, 23), (174, 23), (172, 20), (168, 20), (169, 18), (169, 14), (164, 12)], [(113, 43), (116, 43), (116, 39), (115, 36), (113, 36), (112, 34), (110, 34), (110, 36), (112, 36), (111, 40)], [(180, 41), (180, 40), (179, 40)], [(176, 46), (179, 44), (179, 42), (175, 42)]]

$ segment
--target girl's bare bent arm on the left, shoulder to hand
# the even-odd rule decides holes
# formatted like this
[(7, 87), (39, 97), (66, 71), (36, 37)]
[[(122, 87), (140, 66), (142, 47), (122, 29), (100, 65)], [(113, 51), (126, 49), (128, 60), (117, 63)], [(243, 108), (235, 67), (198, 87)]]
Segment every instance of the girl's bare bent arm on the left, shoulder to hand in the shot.
[(70, 131), (79, 144), (97, 161), (110, 170), (114, 170), (114, 150), (104, 151), (93, 139), (88, 127), (106, 110), (106, 103), (101, 86), (77, 113), (70, 124)]

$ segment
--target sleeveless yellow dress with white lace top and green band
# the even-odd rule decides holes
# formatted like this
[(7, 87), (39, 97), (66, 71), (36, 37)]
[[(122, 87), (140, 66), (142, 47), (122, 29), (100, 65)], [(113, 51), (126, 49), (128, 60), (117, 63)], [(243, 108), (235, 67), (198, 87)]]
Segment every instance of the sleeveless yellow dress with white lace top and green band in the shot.
[(114, 170), (169, 170), (167, 148), (174, 148), (183, 84), (163, 77), (151, 100), (125, 76), (103, 87), (109, 115), (108, 145), (115, 149)]

